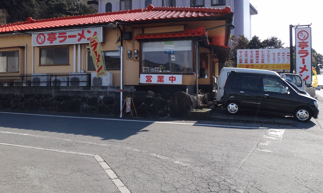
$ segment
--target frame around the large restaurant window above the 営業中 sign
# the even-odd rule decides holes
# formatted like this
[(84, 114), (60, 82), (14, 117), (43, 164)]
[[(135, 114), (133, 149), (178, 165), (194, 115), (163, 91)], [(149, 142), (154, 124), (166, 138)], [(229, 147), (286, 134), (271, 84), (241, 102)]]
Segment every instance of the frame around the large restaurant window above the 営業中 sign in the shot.
[[(192, 41), (192, 47), (191, 47), (191, 51), (192, 51), (192, 56), (191, 56), (191, 60), (192, 60), (192, 72), (143, 72), (143, 43), (146, 42), (165, 42), (165, 41), (185, 41), (185, 40), (190, 40)], [(158, 40), (144, 40), (140, 42), (140, 49), (141, 49), (141, 53), (140, 53), (140, 60), (139, 60), (139, 74), (180, 74), (180, 75), (194, 75), (196, 73), (196, 61), (195, 61), (195, 55), (196, 55), (196, 49), (195, 49), (195, 44), (196, 44), (196, 39), (194, 38), (189, 38), (189, 39), (158, 39)]]

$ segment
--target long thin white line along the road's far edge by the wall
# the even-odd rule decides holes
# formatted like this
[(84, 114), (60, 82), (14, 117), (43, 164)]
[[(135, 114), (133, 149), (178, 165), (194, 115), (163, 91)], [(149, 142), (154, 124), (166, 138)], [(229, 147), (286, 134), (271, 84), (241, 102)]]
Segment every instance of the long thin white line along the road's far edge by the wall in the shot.
[(144, 123), (168, 123), (168, 124), (180, 124), (180, 125), (192, 125), (192, 126), (210, 126), (210, 127), (228, 127), (228, 128), (249, 128), (249, 129), (267, 129), (267, 127), (252, 127), (252, 126), (236, 126), (236, 125), (215, 125), (215, 124), (201, 124), (201, 123), (179, 123), (170, 121), (144, 121), (144, 120), (130, 120), (130, 119), (115, 119), (115, 118), (97, 118), (97, 117), (73, 117), (63, 115), (40, 115), (40, 114), (28, 114), (28, 113), (12, 113), (12, 112), (0, 112), (4, 114), (15, 115), (30, 115), (30, 116), (44, 116), (44, 117), (63, 117), (74, 119), (96, 119), (96, 120), (111, 120), (111, 121), (129, 121), (129, 122), (144, 122)]

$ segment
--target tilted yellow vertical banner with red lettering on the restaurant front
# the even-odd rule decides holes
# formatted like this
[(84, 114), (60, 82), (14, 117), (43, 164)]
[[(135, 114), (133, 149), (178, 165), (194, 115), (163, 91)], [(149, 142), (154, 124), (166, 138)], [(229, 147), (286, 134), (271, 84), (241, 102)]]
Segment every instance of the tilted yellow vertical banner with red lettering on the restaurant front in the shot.
[(89, 43), (93, 64), (96, 69), (96, 77), (105, 75), (105, 65), (103, 63), (101, 45), (97, 35), (91, 36)]

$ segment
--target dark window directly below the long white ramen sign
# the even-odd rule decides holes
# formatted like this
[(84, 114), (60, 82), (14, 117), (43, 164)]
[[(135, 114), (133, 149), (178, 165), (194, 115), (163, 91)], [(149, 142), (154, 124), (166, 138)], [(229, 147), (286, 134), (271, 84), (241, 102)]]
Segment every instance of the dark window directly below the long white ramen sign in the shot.
[(40, 65), (68, 65), (69, 47), (40, 49)]

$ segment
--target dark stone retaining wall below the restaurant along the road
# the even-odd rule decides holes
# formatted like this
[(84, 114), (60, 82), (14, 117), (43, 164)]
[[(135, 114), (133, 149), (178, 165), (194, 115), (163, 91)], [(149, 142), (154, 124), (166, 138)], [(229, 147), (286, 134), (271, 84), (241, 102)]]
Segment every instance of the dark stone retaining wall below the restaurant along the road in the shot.
[[(119, 99), (118, 97), (116, 97), (116, 95), (119, 95)], [(119, 116), (120, 92), (116, 95), (106, 94), (99, 96), (52, 96), (48, 93), (0, 93), (0, 109), (16, 111), (88, 113)], [(173, 94), (154, 93), (152, 91), (125, 91), (123, 92), (123, 103), (127, 95), (131, 95), (136, 112), (138, 116), (141, 117), (171, 116), (174, 118), (179, 118), (187, 115), (193, 107), (192, 96), (182, 91), (178, 91)], [(134, 107), (132, 106), (133, 112)]]

